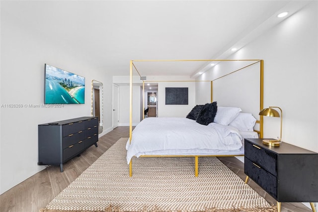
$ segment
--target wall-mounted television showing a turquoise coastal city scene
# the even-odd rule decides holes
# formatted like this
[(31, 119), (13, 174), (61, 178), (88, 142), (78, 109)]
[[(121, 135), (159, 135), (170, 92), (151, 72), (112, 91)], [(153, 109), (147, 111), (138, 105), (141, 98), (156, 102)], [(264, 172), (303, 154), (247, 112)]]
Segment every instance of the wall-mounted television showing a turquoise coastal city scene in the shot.
[(45, 104), (84, 104), (85, 78), (45, 64)]

